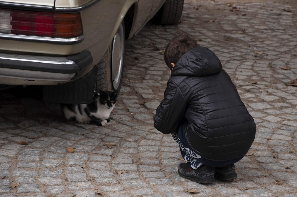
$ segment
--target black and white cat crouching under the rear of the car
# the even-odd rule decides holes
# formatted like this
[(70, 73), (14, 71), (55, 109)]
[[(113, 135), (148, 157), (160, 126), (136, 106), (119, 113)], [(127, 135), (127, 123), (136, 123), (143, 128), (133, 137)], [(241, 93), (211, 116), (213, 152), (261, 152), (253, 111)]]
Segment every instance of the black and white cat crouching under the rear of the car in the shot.
[(118, 91), (94, 92), (93, 101), (90, 104), (61, 104), (61, 111), (67, 120), (75, 120), (79, 123), (96, 122), (103, 126), (109, 122), (110, 112), (116, 104)]

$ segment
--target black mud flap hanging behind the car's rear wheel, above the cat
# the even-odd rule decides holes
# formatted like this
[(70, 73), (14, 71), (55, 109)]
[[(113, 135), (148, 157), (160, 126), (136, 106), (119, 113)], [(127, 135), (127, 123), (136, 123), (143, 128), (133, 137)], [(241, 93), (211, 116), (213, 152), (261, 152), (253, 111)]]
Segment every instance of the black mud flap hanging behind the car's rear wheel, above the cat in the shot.
[(43, 100), (51, 103), (91, 103), (97, 82), (98, 67), (78, 80), (59, 85), (43, 86)]

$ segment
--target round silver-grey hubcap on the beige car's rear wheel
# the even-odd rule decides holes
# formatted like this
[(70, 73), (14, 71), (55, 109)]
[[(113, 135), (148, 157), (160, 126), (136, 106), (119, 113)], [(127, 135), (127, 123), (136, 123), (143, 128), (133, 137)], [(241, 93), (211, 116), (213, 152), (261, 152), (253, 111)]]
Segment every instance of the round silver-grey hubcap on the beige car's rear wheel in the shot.
[(120, 25), (116, 35), (113, 38), (112, 54), (111, 54), (111, 80), (113, 88), (117, 90), (121, 83), (121, 74), (124, 59), (124, 30)]

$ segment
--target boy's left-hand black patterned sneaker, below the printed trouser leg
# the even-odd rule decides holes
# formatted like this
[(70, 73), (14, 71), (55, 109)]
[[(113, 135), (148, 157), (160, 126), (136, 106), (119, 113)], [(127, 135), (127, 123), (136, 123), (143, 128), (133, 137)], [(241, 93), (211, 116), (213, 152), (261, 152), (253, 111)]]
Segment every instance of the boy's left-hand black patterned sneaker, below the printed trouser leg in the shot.
[(180, 163), (178, 165), (179, 176), (195, 181), (198, 183), (213, 183), (214, 182), (214, 170), (202, 165), (197, 170), (192, 169), (187, 163)]

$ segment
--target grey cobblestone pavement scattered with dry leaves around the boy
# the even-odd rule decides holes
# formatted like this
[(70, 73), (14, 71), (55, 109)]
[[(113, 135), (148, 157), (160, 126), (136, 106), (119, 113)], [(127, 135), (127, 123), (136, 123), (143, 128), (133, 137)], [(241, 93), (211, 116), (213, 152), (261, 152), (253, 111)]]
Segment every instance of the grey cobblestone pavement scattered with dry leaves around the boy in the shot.
[[(181, 24), (147, 24), (128, 43), (123, 87), (104, 127), (0, 93), (0, 197), (297, 196), (297, 87), (285, 84), (297, 78), (296, 22), (296, 10), (281, 4), (185, 0)], [(169, 78), (162, 52), (179, 32), (218, 55), (257, 124), (232, 182), (179, 177), (176, 142), (153, 127)]]

